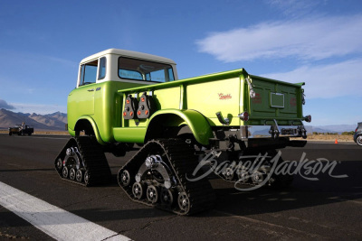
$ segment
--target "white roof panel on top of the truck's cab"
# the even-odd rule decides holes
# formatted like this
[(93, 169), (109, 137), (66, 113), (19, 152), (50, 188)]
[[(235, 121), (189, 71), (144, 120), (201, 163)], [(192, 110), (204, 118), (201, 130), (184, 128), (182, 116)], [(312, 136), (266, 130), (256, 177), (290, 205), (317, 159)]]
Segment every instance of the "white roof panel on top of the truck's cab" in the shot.
[(81, 63), (100, 58), (100, 56), (104, 56), (106, 54), (117, 54), (119, 56), (124, 56), (124, 57), (131, 57), (131, 58), (142, 59), (142, 60), (155, 60), (157, 62), (176, 64), (176, 62), (174, 60), (170, 60), (170, 59), (167, 59), (164, 57), (159, 57), (157, 55), (138, 52), (138, 51), (125, 51), (125, 50), (119, 50), (119, 49), (109, 49), (106, 51), (97, 52), (97, 53), (90, 55), (89, 57), (81, 60)]

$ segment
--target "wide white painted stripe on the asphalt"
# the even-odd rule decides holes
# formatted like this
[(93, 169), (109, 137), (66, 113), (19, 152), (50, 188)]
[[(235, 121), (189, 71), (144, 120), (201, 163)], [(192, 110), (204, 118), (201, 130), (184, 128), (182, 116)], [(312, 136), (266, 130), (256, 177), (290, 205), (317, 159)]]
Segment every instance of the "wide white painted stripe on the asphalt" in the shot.
[(1, 181), (0, 205), (56, 240), (130, 240)]

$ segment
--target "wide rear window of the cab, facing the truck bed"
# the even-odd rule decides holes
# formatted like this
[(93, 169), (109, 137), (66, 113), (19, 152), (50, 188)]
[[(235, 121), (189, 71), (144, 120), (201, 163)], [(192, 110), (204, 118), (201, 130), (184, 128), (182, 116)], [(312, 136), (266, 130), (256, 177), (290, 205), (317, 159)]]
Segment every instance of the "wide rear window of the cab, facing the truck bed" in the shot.
[(175, 80), (171, 65), (119, 57), (119, 78), (155, 82)]

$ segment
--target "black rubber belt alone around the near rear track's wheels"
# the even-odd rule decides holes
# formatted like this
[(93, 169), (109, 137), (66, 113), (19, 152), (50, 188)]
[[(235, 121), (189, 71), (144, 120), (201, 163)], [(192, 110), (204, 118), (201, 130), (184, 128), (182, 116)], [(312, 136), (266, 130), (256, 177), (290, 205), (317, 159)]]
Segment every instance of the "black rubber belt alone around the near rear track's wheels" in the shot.
[[(172, 168), (172, 171), (176, 176), (177, 184), (181, 185), (182, 189), (186, 191), (190, 201), (190, 209), (187, 213), (177, 210), (178, 206), (176, 202), (178, 193), (174, 195), (174, 206), (176, 206), (176, 209), (167, 209), (167, 207), (161, 205), (160, 203), (151, 204), (147, 201), (147, 199), (138, 200), (133, 198), (131, 186), (135, 181), (134, 177), (137, 174), (140, 165), (145, 162), (148, 154), (152, 153), (152, 150), (155, 150), (155, 148), (161, 148), (166, 153), (167, 159), (171, 164), (170, 168)], [(193, 178), (192, 173), (195, 171), (197, 164), (198, 162), (194, 154), (194, 149), (186, 144), (185, 141), (180, 139), (153, 140), (144, 145), (138, 153), (129, 160), (129, 162), (119, 169), (119, 178), (120, 174), (124, 170), (128, 170), (131, 176), (131, 181), (128, 187), (123, 188), (120, 183), (119, 186), (127, 193), (129, 199), (132, 199), (133, 201), (151, 207), (156, 207), (158, 209), (172, 211), (178, 215), (195, 214), (205, 209), (211, 209), (214, 206), (215, 200), (214, 190), (207, 179), (202, 179), (200, 181), (187, 181), (186, 176)]]

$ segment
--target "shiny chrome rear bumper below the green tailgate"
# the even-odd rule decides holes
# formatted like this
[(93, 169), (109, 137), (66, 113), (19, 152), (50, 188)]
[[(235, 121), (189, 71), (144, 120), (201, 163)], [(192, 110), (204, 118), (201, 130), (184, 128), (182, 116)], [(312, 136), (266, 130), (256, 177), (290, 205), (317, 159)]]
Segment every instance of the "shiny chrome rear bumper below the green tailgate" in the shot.
[(303, 137), (307, 138), (304, 125), (242, 125), (240, 132), (242, 140), (251, 138), (278, 138), (278, 137)]

